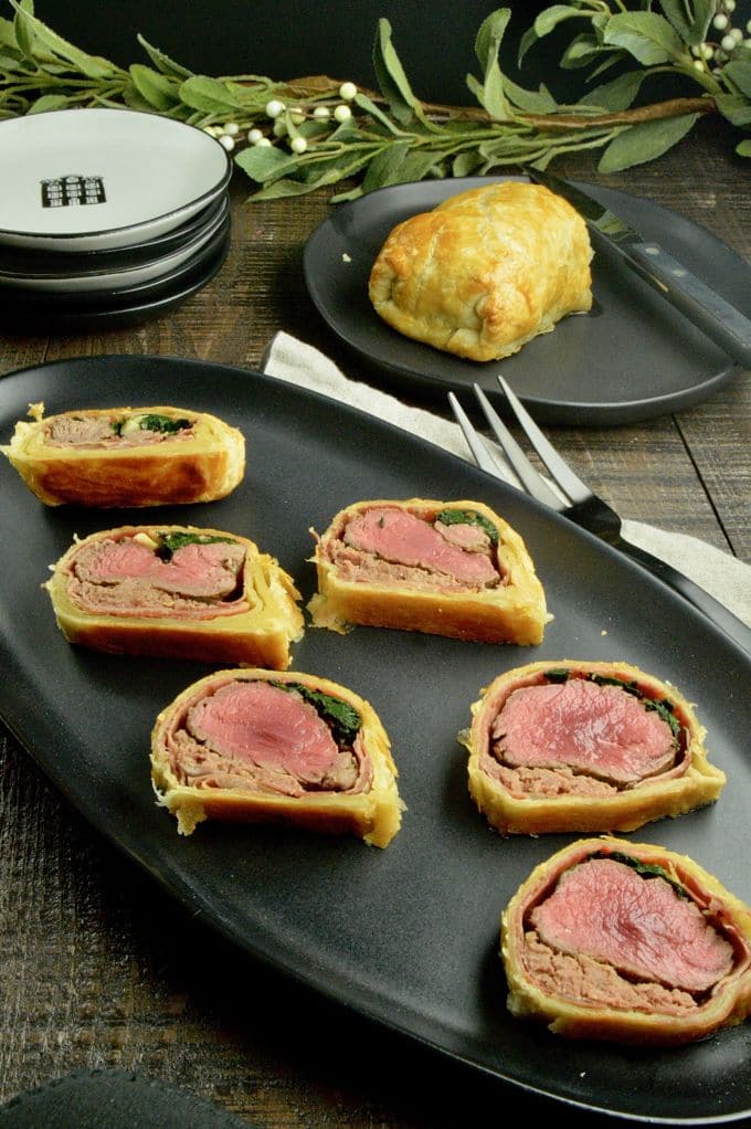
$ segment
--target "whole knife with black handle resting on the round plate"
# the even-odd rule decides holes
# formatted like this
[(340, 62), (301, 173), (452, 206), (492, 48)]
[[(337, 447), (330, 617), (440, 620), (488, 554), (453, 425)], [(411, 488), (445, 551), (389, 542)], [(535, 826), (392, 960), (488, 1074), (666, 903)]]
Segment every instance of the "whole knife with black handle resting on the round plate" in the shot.
[(701, 330), (728, 357), (751, 368), (751, 320), (721, 298), (687, 266), (654, 240), (645, 239), (625, 220), (568, 181), (524, 167), (531, 181), (564, 196), (579, 212), (595, 242), (615, 251), (622, 262)]

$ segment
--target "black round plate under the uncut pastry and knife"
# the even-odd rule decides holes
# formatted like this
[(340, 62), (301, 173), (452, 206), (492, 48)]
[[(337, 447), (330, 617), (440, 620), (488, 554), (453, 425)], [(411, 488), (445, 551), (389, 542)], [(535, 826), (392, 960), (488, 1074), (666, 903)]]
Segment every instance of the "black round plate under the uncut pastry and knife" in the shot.
[[(381, 189), (338, 207), (308, 239), (304, 265), (313, 301), (384, 383), (445, 397), (477, 382), (501, 402), (496, 374), (503, 371), (539, 420), (610, 426), (688, 408), (739, 371), (646, 282), (601, 254), (593, 262), (593, 313), (565, 318), (504, 360), (475, 364), (392, 330), (368, 299), (368, 277), (386, 236), (408, 217), (487, 183), (466, 177)], [(751, 315), (751, 268), (710, 231), (647, 200), (582, 187)]]

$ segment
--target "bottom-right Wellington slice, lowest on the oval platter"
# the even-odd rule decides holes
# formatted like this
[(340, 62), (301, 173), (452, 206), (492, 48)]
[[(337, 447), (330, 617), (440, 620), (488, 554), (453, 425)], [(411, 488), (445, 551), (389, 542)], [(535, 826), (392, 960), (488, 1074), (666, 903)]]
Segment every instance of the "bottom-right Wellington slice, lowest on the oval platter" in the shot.
[(685, 855), (582, 839), (503, 912), (513, 1015), (569, 1039), (678, 1045), (751, 1013), (751, 910)]

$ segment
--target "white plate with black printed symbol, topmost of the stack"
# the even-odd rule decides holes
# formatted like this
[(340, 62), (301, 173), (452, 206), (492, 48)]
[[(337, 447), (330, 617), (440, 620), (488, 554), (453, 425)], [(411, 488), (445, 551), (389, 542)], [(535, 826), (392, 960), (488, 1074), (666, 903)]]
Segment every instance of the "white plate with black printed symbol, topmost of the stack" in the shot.
[(203, 130), (130, 110), (61, 110), (0, 122), (0, 244), (126, 247), (206, 208), (232, 175)]

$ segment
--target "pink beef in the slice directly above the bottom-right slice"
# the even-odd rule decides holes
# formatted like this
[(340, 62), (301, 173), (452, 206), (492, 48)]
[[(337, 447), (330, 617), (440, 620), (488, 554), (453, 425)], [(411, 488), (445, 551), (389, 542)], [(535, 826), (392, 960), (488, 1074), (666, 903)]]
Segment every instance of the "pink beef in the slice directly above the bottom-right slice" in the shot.
[(505, 764), (566, 765), (618, 785), (665, 771), (676, 754), (672, 729), (655, 710), (619, 686), (585, 679), (515, 690), (491, 738)]

